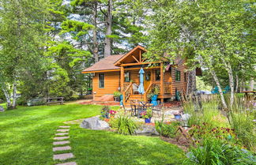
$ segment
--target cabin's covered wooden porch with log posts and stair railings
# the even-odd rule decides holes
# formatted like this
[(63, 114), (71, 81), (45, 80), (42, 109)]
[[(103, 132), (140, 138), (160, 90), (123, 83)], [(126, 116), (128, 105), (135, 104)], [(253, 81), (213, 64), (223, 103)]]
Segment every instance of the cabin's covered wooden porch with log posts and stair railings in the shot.
[[(144, 89), (143, 95), (134, 91), (134, 85), (140, 84), (139, 70), (144, 69)], [(129, 99), (140, 99), (142, 101), (148, 101), (149, 93), (152, 88), (159, 88), (160, 92), (158, 99), (164, 102), (164, 99), (171, 98), (172, 93), (172, 78), (171, 72), (164, 73), (164, 63), (156, 63), (156, 66), (149, 67), (148, 64), (141, 65), (137, 62), (132, 67), (126, 64), (121, 65), (120, 72), (120, 87), (123, 96), (124, 103), (129, 103)]]

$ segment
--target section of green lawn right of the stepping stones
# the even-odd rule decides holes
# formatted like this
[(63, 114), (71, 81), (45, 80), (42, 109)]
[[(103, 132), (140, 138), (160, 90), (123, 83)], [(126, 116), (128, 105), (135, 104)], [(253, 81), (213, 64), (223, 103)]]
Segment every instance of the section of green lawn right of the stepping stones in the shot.
[(107, 131), (70, 130), (78, 164), (181, 164), (184, 152), (159, 137), (124, 136)]

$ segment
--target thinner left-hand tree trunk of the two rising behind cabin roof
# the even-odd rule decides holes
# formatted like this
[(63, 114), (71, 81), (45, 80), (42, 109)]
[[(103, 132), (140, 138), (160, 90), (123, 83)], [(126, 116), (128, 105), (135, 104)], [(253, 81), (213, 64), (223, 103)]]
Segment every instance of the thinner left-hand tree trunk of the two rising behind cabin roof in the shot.
[(95, 1), (94, 2), (94, 10), (93, 10), (93, 25), (94, 25), (94, 28), (93, 28), (93, 36), (92, 36), (92, 39), (93, 39), (93, 57), (94, 57), (94, 60), (95, 62), (98, 62), (99, 61), (99, 44), (98, 44), (98, 41), (97, 41), (97, 17), (98, 17), (98, 2)]

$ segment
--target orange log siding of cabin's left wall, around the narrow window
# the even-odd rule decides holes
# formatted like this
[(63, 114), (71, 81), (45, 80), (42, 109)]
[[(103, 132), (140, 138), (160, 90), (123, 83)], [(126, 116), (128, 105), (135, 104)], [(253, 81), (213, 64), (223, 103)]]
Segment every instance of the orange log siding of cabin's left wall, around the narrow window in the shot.
[(104, 73), (104, 88), (99, 88), (99, 73), (95, 73), (92, 78), (92, 93), (94, 97), (101, 97), (107, 94), (113, 94), (120, 87), (120, 72)]

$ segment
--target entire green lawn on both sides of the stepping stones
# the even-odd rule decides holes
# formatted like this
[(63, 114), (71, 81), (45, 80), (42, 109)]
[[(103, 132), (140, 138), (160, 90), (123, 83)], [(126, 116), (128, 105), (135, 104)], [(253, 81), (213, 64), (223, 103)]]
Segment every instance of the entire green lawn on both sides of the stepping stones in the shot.
[[(52, 142), (62, 122), (100, 114), (100, 106), (19, 107), (0, 113), (0, 164), (55, 164)], [(158, 137), (122, 136), (71, 125), (74, 159), (84, 164), (180, 164), (184, 153)]]

